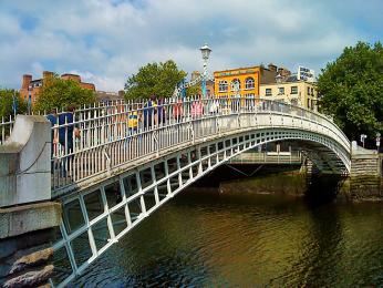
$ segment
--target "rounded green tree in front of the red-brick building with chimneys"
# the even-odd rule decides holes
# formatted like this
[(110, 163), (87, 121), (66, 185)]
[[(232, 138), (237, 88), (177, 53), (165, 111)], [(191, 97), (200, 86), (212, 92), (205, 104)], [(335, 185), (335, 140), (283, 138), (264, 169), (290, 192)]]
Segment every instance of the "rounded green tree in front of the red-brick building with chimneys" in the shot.
[(94, 92), (83, 89), (73, 80), (54, 75), (44, 81), (33, 109), (49, 112), (52, 109), (66, 109), (69, 105), (84, 105), (95, 102)]

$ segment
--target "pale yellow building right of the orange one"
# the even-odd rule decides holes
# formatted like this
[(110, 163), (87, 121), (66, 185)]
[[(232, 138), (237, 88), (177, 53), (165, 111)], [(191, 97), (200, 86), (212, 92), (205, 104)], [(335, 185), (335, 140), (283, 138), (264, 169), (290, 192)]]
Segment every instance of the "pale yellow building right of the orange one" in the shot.
[(315, 84), (307, 81), (277, 82), (260, 85), (260, 96), (309, 110), (318, 110)]

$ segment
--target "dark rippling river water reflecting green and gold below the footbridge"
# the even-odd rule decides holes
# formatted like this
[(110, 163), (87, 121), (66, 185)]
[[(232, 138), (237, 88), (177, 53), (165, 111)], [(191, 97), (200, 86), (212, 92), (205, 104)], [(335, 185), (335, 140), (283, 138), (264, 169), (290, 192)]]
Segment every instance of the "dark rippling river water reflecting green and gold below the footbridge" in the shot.
[(200, 189), (177, 195), (74, 284), (383, 287), (381, 204)]

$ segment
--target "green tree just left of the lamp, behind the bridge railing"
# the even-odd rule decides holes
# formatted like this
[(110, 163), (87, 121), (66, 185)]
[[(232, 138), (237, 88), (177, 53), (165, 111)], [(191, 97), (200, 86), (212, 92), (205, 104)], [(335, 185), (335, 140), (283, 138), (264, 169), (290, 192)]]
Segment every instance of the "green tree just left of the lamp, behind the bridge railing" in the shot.
[(125, 83), (126, 99), (147, 99), (155, 94), (168, 97), (186, 73), (177, 69), (173, 60), (165, 63), (148, 63), (139, 68), (138, 73), (127, 79)]

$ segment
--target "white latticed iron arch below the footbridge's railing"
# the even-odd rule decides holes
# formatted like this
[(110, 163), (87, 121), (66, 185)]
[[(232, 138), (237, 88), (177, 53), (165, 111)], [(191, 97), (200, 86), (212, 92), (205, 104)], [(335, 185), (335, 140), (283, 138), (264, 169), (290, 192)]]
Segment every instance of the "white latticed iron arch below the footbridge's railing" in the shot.
[(64, 197), (60, 227), (63, 238), (54, 245), (54, 250), (56, 257), (66, 257), (72, 272), (59, 287), (81, 275), (106, 249), (187, 186), (242, 152), (283, 140), (319, 143), (343, 158), (346, 169), (346, 155), (331, 138), (298, 130), (263, 128), (203, 140)]

